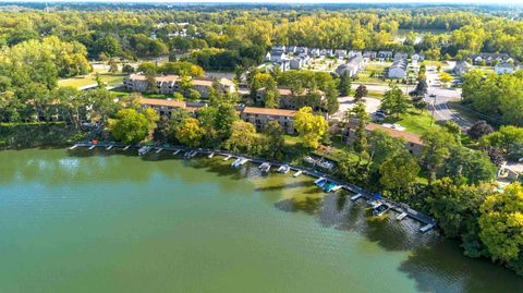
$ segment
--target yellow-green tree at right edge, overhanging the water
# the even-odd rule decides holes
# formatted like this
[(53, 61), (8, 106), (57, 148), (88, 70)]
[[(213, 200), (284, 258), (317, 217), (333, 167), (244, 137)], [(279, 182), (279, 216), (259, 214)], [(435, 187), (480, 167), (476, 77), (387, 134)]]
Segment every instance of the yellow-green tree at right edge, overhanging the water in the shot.
[(523, 186), (508, 185), (489, 195), (481, 207), (479, 236), (494, 260), (521, 258), (523, 252)]

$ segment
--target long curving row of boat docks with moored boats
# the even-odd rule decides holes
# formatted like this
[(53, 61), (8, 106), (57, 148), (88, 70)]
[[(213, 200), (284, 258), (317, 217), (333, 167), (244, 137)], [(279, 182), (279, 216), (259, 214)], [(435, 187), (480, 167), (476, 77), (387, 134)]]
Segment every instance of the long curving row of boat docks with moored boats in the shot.
[[(119, 143), (102, 143), (102, 142), (100, 142), (98, 144), (93, 144), (92, 142), (78, 142), (75, 145), (73, 145), (72, 147), (70, 147), (70, 149), (75, 149), (77, 147), (87, 147), (88, 149), (94, 149), (97, 146), (99, 146), (99, 147), (105, 146), (107, 148), (110, 145), (113, 145), (113, 147), (122, 147), (123, 150), (127, 150), (131, 147), (139, 148), (139, 150), (138, 150), (139, 156), (143, 156), (143, 155), (147, 154), (150, 149), (153, 149), (153, 146), (139, 146), (139, 145), (138, 146), (131, 146), (131, 145), (122, 145), (122, 144), (119, 144)], [(340, 190), (345, 190), (345, 191), (354, 194), (353, 196), (350, 197), (350, 199), (352, 202), (355, 202), (355, 200), (357, 200), (362, 197), (367, 199), (368, 202), (370, 202), (372, 199), (375, 199), (370, 193), (368, 193), (367, 191), (363, 190), (360, 186), (356, 186), (354, 184), (333, 179), (326, 173), (321, 173), (321, 172), (318, 172), (318, 171), (315, 171), (315, 170), (305, 169), (305, 168), (299, 167), (299, 166), (292, 166), (292, 164), (288, 164), (288, 163), (283, 163), (283, 162), (275, 162), (275, 161), (269, 161), (269, 160), (265, 160), (265, 159), (260, 159), (260, 158), (246, 157), (244, 155), (228, 152), (228, 151), (223, 151), (223, 150), (216, 150), (216, 149), (204, 149), (204, 148), (191, 149), (191, 148), (185, 148), (185, 147), (180, 147), (180, 146), (170, 147), (170, 146), (167, 146), (167, 145), (162, 146), (162, 147), (157, 147), (157, 149), (158, 149), (157, 152), (159, 152), (161, 150), (170, 150), (170, 151), (173, 151), (172, 152), (173, 155), (178, 155), (181, 151), (186, 151), (184, 158), (187, 158), (187, 159), (193, 158), (194, 156), (196, 156), (199, 152), (207, 155), (208, 158), (212, 158), (215, 156), (222, 156), (223, 161), (227, 161), (231, 158), (235, 158), (235, 160), (231, 163), (232, 167), (240, 167), (240, 166), (245, 164), (248, 161), (254, 162), (254, 163), (259, 163), (259, 164), (268, 163), (269, 166), (273, 166), (275, 168), (280, 168), (280, 169), (283, 166), (288, 166), (289, 170), (294, 171), (294, 173), (292, 175), (293, 178), (297, 178), (301, 174), (306, 174), (308, 176), (316, 178), (314, 183), (316, 185), (318, 185), (319, 187), (324, 188), (324, 185), (328, 185), (329, 188), (326, 192), (337, 192), (337, 191), (340, 191)], [(278, 170), (280, 170), (280, 169), (278, 169)], [(372, 200), (372, 202), (375, 202), (375, 200)], [(428, 217), (428, 216), (426, 216), (422, 212), (418, 212), (414, 209), (411, 209), (410, 207), (408, 207), (405, 205), (394, 203), (394, 202), (392, 202), (388, 198), (381, 198), (381, 199), (379, 199), (379, 202), (382, 203), (382, 204), (387, 204), (390, 207), (391, 210), (393, 210), (394, 212), (398, 213), (398, 216), (396, 217), (396, 219), (398, 221), (401, 221), (404, 218), (411, 218), (411, 219), (413, 219), (417, 222), (421, 222), (423, 224), (419, 228), (419, 231), (422, 233), (428, 232), (429, 230), (437, 227), (437, 222), (436, 222), (435, 219), (433, 219), (433, 218), (430, 218), (430, 217)]]

